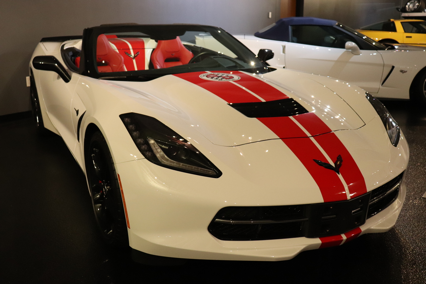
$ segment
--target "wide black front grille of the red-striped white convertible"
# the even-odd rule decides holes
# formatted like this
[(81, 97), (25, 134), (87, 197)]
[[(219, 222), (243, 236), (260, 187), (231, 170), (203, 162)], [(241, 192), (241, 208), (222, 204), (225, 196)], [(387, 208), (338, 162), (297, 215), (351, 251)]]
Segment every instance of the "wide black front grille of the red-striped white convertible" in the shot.
[(339, 235), (360, 227), (366, 219), (392, 204), (403, 173), (371, 192), (345, 201), (288, 205), (225, 207), (210, 222), (208, 231), (224, 241), (281, 238), (318, 238)]

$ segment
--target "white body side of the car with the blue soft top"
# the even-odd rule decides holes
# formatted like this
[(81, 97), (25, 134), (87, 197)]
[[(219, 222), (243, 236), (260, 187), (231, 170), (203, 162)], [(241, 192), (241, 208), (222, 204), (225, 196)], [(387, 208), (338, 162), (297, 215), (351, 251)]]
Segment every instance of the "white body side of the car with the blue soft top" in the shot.
[[(379, 98), (409, 99), (414, 77), (426, 67), (426, 49), (417, 46), (361, 50), (361, 55), (353, 55), (345, 49), (267, 40), (253, 35), (234, 37), (255, 54), (259, 49), (271, 49), (274, 52), (274, 57), (268, 60), (271, 66), (344, 80)], [(392, 66), (395, 66), (393, 72), (383, 83)]]

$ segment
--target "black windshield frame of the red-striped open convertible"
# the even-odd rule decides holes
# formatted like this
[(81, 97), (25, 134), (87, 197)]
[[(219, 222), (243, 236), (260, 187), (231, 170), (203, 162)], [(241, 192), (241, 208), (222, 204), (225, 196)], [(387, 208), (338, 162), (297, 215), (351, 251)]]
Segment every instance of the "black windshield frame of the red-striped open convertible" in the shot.
[[(83, 42), (81, 50), (81, 62), (80, 70), (81, 74), (92, 77), (92, 78), (105, 78), (107, 80), (117, 80), (121, 78), (122, 80), (144, 80), (146, 77), (147, 80), (152, 80), (156, 77), (161, 77), (164, 75), (170, 74), (180, 74), (187, 72), (198, 72), (198, 71), (210, 71), (208, 68), (162, 68), (162, 69), (145, 69), (145, 70), (133, 70), (133, 71), (122, 71), (122, 72), (98, 72), (96, 64), (96, 44), (98, 35), (100, 34), (109, 34), (109, 33), (119, 33), (119, 32), (146, 32), (146, 31), (155, 31), (155, 29), (160, 29), (164, 32), (170, 30), (170, 34), (159, 34), (158, 38), (155, 40), (169, 40), (176, 38), (176, 34), (179, 34), (179, 31), (186, 29), (187, 31), (212, 31), (215, 30), (221, 33), (221, 36), (224, 40), (228, 40), (230, 43), (230, 48), (238, 50), (240, 54), (245, 55), (245, 57), (250, 58), (253, 61), (255, 68), (249, 69), (235, 69), (235, 71), (247, 71), (250, 73), (264, 74), (271, 71), (268, 66), (262, 61), (259, 60), (257, 55), (250, 51), (244, 44), (239, 40), (233, 37), (231, 34), (227, 33), (225, 30), (215, 27), (215, 26), (205, 26), (205, 25), (196, 25), (196, 24), (164, 24), (164, 25), (139, 25), (139, 24), (114, 24), (114, 25), (101, 25), (92, 28), (84, 29), (83, 31)], [(173, 37), (174, 36), (174, 37)], [(251, 59), (253, 58), (253, 59)], [(245, 59), (245, 58), (244, 58)], [(247, 61), (245, 61), (247, 63)], [(194, 63), (193, 63), (194, 64)], [(184, 66), (184, 65), (181, 65)], [(196, 66), (195, 66), (196, 67)], [(202, 70), (201, 70), (202, 69)], [(212, 70), (214, 70), (212, 68)], [(221, 71), (234, 71), (232, 69), (222, 69)]]

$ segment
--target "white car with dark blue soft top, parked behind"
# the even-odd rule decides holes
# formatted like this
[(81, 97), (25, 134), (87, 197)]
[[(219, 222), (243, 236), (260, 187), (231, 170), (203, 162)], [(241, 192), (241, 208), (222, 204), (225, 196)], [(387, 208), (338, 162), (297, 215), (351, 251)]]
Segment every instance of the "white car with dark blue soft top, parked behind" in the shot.
[(289, 17), (253, 35), (251, 51), (271, 49), (271, 66), (345, 80), (378, 98), (426, 103), (426, 49), (382, 44), (334, 20)]

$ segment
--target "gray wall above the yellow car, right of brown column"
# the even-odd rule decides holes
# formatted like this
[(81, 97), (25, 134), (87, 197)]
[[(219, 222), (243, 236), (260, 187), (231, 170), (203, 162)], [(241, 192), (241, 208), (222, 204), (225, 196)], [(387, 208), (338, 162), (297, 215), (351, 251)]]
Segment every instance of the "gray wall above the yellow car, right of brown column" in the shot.
[(407, 0), (305, 0), (303, 15), (337, 20), (353, 29), (388, 19), (400, 19)]

